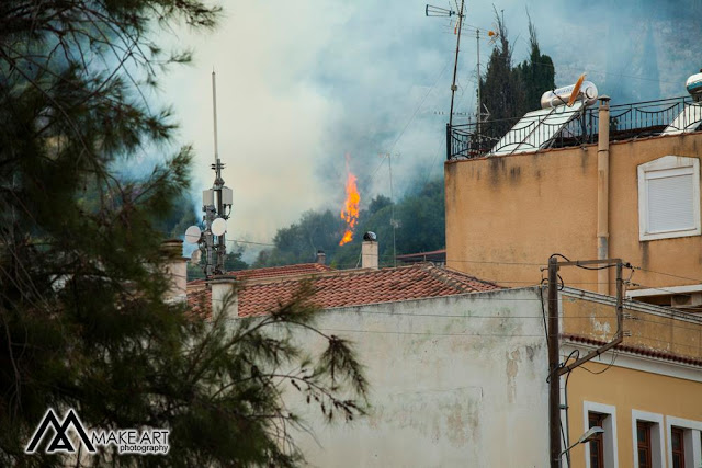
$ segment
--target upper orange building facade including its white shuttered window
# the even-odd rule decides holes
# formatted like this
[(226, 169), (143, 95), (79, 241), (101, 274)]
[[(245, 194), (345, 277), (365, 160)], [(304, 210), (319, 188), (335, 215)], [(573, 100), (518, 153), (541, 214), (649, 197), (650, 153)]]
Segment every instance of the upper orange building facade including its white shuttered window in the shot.
[[(633, 297), (669, 305), (668, 293), (682, 300), (702, 290), (701, 153), (700, 133), (609, 145), (608, 254), (638, 269)], [(446, 265), (523, 286), (540, 283), (540, 265), (555, 252), (597, 259), (598, 172), (598, 145), (448, 161)], [(680, 197), (689, 207), (670, 212), (666, 203)], [(597, 272), (562, 276), (598, 290)], [(698, 304), (697, 295), (689, 300)]]

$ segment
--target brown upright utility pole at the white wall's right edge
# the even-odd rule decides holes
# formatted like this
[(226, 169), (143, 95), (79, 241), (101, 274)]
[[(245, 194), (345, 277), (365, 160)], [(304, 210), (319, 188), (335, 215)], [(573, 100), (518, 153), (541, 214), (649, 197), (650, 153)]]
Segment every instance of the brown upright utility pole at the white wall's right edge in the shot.
[(561, 377), (558, 376), (558, 262), (548, 259), (548, 438), (550, 466), (561, 466)]

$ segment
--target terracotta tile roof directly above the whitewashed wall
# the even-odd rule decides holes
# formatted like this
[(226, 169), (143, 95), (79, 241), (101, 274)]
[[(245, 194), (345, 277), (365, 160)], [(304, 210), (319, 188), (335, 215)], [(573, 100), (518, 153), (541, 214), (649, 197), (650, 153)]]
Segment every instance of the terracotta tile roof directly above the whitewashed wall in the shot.
[[(500, 289), (494, 283), (431, 263), (382, 270), (330, 270), (306, 275), (295, 269), (290, 271), (290, 275), (279, 275), (274, 279), (265, 275), (242, 277), (239, 317), (274, 310), (290, 300), (305, 281), (312, 284), (312, 300), (324, 309)], [(203, 283), (189, 283), (188, 294), (189, 303), (195, 309), (200, 309), (199, 305), (210, 307), (208, 292)]]

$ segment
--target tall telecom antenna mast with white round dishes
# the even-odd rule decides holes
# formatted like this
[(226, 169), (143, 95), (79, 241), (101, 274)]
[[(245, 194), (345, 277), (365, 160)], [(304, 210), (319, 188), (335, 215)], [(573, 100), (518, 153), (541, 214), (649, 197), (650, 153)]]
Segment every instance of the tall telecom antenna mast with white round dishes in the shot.
[(214, 121), (215, 162), (211, 168), (215, 171), (215, 182), (212, 189), (202, 192), (202, 210), (204, 231), (197, 226), (191, 226), (185, 231), (185, 241), (197, 243), (205, 258), (203, 272), (205, 277), (224, 274), (224, 260), (227, 254), (226, 232), (227, 219), (231, 214), (234, 193), (224, 185), (222, 170), (225, 164), (219, 159), (217, 146), (217, 83), (215, 70), (212, 70), (212, 114)]

